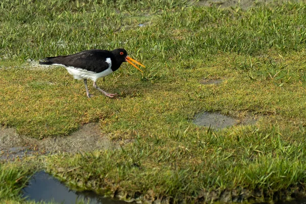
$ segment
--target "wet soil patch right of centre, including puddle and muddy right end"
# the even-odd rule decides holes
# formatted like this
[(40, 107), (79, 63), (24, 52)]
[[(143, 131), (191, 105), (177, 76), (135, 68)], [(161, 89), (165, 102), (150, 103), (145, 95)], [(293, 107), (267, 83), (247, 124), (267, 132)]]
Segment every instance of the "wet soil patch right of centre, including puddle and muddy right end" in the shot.
[(193, 122), (199, 126), (222, 130), (233, 125), (255, 124), (258, 116), (251, 113), (238, 113), (236, 115), (223, 115), (219, 112), (202, 112), (195, 116)]

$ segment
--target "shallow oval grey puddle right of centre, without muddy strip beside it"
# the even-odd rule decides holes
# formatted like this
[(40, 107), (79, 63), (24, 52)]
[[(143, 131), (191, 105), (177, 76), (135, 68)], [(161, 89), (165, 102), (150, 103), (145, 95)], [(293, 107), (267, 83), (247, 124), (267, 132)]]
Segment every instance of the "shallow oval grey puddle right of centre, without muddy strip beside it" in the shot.
[(209, 112), (198, 114), (193, 122), (200, 126), (211, 126), (213, 129), (224, 129), (225, 127), (238, 123), (238, 121), (232, 117), (220, 113)]

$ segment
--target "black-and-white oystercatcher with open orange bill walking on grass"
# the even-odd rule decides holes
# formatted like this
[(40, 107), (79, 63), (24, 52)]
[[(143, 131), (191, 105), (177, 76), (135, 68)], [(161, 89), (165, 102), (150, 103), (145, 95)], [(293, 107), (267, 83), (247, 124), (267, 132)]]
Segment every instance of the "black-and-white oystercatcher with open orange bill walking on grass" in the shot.
[(112, 98), (116, 94), (107, 93), (98, 87), (96, 81), (99, 78), (105, 77), (119, 69), (122, 62), (129, 62), (141, 72), (142, 70), (139, 69), (133, 62), (145, 67), (136, 60), (127, 56), (126, 50), (122, 48), (114, 49), (112, 51), (90, 49), (73, 55), (47, 57), (43, 60), (45, 61), (39, 62), (39, 64), (64, 66), (67, 71), (73, 75), (74, 79), (84, 80), (86, 95), (89, 98), (92, 96), (92, 94), (89, 94), (88, 91), (88, 79), (93, 81), (94, 88), (102, 92), (104, 95)]

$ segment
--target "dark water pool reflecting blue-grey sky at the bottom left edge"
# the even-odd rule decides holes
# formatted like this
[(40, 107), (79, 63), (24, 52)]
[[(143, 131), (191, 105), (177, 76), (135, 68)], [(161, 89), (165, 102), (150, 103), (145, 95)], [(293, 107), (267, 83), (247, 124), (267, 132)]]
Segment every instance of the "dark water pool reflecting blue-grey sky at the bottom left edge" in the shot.
[(78, 203), (84, 201), (88, 204), (123, 204), (121, 200), (113, 200), (97, 195), (94, 192), (76, 192), (69, 190), (64, 184), (59, 182), (53, 176), (41, 171), (36, 173), (29, 181), (29, 186), (22, 189), (24, 197), (27, 200), (35, 201), (54, 201), (63, 204)]

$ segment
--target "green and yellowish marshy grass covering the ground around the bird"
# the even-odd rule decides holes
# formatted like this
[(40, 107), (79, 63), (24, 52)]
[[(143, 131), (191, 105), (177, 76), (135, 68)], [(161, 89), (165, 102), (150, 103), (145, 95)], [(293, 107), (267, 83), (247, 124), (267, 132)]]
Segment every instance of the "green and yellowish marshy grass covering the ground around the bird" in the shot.
[[(46, 157), (45, 168), (70, 185), (170, 201), (276, 199), (304, 188), (304, 3), (249, 10), (184, 1), (0, 5), (0, 122), (35, 138), (99, 122), (103, 136), (133, 139), (117, 150)], [(124, 64), (98, 81), (119, 93), (114, 99), (91, 87), (88, 99), (64, 68), (25, 62), (117, 47), (146, 68), (141, 74)], [(203, 78), (223, 81), (201, 85)], [(216, 132), (192, 123), (201, 111), (259, 120)]]

